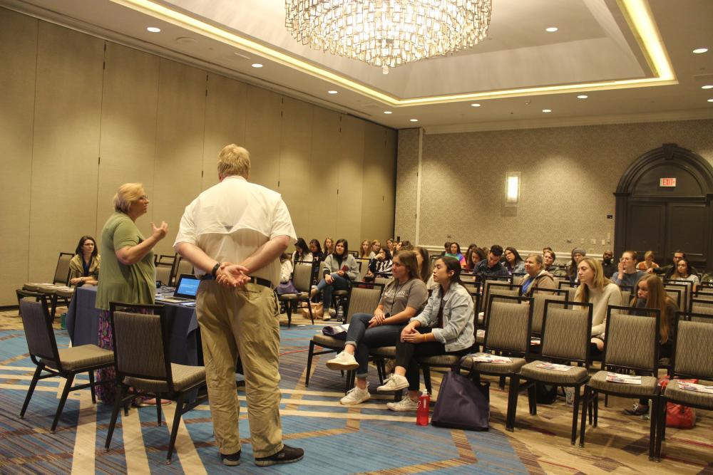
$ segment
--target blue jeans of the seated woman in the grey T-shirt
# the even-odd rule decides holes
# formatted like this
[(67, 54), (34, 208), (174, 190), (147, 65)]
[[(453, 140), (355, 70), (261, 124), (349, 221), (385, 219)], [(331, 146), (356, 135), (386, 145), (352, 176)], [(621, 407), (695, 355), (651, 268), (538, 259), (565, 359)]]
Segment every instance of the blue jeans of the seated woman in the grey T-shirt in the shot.
[(347, 330), (347, 342), (345, 344), (356, 346), (354, 359), (359, 363), (356, 370), (357, 377), (366, 377), (369, 371), (369, 348), (379, 348), (380, 346), (394, 346), (399, 340), (401, 330), (406, 326), (406, 322), (396, 325), (379, 325), (374, 328), (367, 328), (369, 320), (374, 315), (368, 313), (356, 313), (352, 315)]

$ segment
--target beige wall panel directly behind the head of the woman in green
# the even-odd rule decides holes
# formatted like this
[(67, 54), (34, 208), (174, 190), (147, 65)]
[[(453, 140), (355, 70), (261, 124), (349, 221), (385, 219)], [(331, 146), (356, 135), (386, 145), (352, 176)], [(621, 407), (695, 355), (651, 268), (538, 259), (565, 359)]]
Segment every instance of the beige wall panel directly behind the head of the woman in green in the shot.
[[(97, 234), (113, 212), (112, 197), (123, 183), (142, 182), (153, 199), (160, 58), (113, 43), (106, 44), (101, 110), (101, 163)], [(138, 219), (148, 236), (153, 206)]]

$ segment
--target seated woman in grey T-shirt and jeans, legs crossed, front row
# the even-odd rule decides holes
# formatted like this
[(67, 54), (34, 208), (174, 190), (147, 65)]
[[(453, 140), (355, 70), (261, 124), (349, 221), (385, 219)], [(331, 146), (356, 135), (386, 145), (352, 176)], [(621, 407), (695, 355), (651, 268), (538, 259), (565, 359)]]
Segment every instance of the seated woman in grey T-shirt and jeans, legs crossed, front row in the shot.
[(344, 351), (327, 361), (331, 370), (356, 370), (356, 386), (339, 402), (352, 405), (369, 400), (371, 395), (366, 382), (369, 348), (395, 345), (406, 323), (424, 308), (428, 299), (426, 284), (419, 276), (416, 253), (399, 252), (394, 256), (394, 280), (384, 288), (374, 314), (352, 315)]

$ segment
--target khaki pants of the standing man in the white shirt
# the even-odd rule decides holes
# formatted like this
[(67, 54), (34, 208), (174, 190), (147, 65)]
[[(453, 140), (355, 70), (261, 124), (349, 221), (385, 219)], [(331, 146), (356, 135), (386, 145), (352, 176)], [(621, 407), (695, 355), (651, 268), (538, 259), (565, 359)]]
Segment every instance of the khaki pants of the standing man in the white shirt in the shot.
[(240, 450), (240, 404), (235, 362), (245, 373), (247, 417), (256, 457), (282, 450), (279, 419), (279, 305), (270, 288), (248, 283), (230, 289), (202, 281), (196, 313), (200, 324), (205, 378), (213, 432), (221, 454)]

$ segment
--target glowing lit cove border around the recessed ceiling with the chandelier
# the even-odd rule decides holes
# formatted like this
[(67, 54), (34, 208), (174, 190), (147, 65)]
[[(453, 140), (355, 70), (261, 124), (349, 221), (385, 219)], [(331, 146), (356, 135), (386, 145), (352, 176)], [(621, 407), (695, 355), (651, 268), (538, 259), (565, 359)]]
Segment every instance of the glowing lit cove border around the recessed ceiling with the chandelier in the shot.
[(270, 48), (263, 43), (240, 36), (235, 31), (228, 31), (214, 24), (207, 23), (181, 11), (168, 8), (157, 1), (152, 0), (111, 0), (113, 3), (125, 6), (128, 9), (139, 11), (140, 13), (153, 16), (155, 19), (165, 21), (188, 31), (212, 38), (229, 46), (240, 48), (256, 56), (275, 61), (282, 66), (293, 68), (296, 71), (312, 75), (315, 78), (326, 80), (329, 83), (341, 85), (343, 88), (352, 90), (354, 93), (364, 95), (371, 100), (379, 101), (393, 108), (405, 108), (414, 105), (429, 105), (443, 103), (459, 103), (468, 100), (483, 100), (493, 98), (513, 98), (531, 95), (575, 93), (595, 90), (627, 89), (651, 87), (658, 85), (677, 84), (676, 76), (668, 57), (668, 53), (661, 39), (658, 28), (653, 19), (647, 0), (618, 0), (617, 5), (625, 15), (628, 24), (632, 27), (632, 33), (637, 38), (642, 52), (647, 61), (655, 71), (655, 77), (637, 78), (627, 80), (605, 80), (593, 83), (575, 83), (553, 86), (538, 86), (533, 88), (517, 88), (510, 90), (492, 90), (473, 93), (462, 93), (455, 95), (439, 95), (423, 98), (396, 98), (380, 90), (370, 88), (358, 81), (349, 79), (335, 71), (322, 68), (309, 61), (291, 56), (284, 51)]

